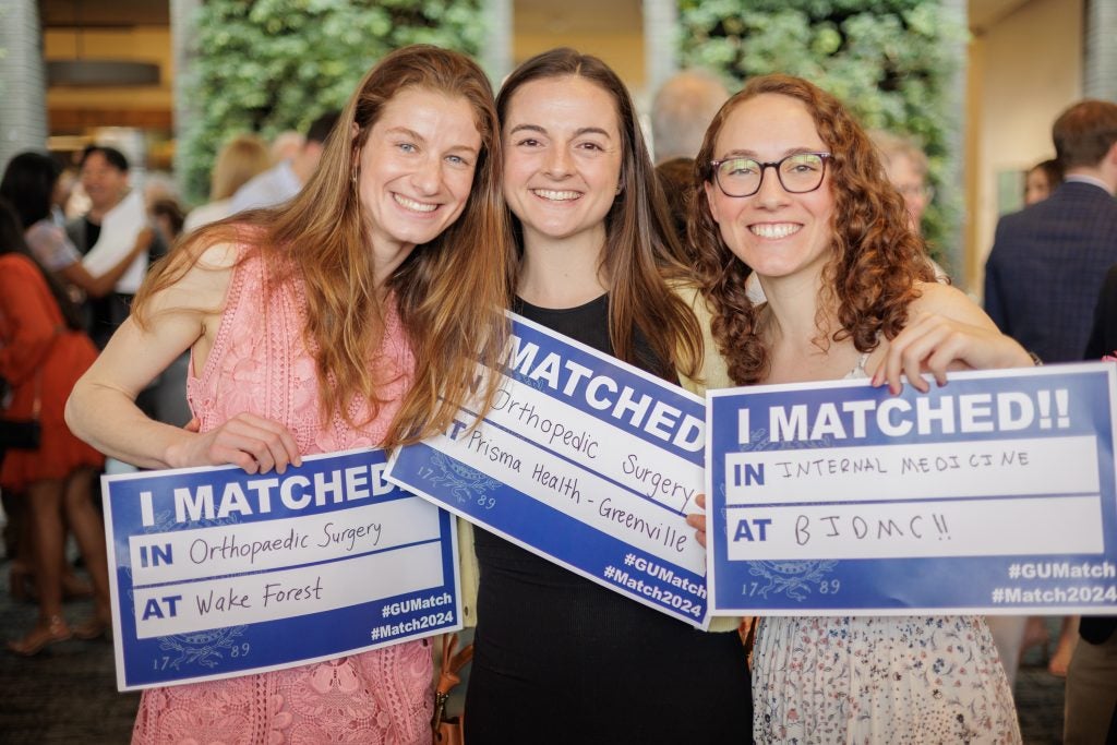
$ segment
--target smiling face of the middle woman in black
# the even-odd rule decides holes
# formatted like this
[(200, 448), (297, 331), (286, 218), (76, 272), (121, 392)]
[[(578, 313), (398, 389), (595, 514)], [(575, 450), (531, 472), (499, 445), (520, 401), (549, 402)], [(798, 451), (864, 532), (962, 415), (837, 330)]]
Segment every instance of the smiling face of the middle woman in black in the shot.
[(504, 195), (525, 242), (604, 245), (621, 178), (612, 96), (576, 76), (532, 80), (513, 94), (503, 131)]

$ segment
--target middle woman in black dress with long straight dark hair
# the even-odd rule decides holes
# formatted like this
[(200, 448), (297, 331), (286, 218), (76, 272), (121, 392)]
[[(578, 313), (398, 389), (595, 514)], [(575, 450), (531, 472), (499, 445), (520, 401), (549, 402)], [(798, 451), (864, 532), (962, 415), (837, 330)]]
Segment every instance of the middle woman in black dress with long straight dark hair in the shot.
[[(513, 308), (671, 382), (695, 376), (701, 336), (657, 267), (675, 266), (676, 239), (623, 84), (596, 57), (554, 49), (507, 78), (497, 111)], [(705, 633), (494, 534), (475, 542), (471, 745), (747, 741), (734, 625)]]

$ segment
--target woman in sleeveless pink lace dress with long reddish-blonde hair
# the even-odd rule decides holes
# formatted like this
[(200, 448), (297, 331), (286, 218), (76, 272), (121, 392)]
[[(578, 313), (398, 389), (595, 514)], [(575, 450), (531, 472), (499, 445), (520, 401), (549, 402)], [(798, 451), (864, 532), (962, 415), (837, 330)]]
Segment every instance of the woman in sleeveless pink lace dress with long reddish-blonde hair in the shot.
[[(507, 338), (500, 165), (481, 69), (436, 47), (392, 52), (298, 197), (199, 230), (154, 271), (75, 389), (70, 426), (142, 467), (248, 472), (443, 431)], [(188, 348), (197, 432), (134, 405)], [(426, 743), (431, 709), (430, 648), (411, 641), (147, 690), (133, 742)]]

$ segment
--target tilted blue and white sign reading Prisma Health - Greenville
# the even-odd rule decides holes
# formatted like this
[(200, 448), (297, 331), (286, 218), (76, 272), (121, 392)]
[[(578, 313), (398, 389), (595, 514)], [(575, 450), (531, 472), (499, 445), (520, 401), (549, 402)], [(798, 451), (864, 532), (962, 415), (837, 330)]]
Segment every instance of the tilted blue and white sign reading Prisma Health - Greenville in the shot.
[(525, 318), (493, 410), (393, 455), (386, 478), (541, 556), (704, 627), (703, 400)]

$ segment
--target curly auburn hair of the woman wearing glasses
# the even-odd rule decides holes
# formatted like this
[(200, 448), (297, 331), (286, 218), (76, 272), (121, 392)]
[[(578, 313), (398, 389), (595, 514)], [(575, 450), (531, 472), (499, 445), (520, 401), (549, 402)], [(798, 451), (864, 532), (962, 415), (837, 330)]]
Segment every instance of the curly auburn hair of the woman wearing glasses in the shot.
[[(803, 102), (832, 154), (822, 185), (834, 198), (832, 255), (822, 269), (818, 343), (825, 348), (830, 340), (851, 338), (858, 351), (869, 352), (881, 336), (894, 338), (904, 328), (908, 304), (919, 296), (915, 283), (934, 281), (935, 275), (923, 239), (907, 227), (904, 198), (885, 175), (869, 136), (841, 102), (789, 75), (751, 79), (725, 103), (706, 131), (695, 161), (695, 180), (717, 188), (712, 161), (722, 127), (734, 108), (763, 94)], [(714, 314), (714, 338), (728, 363), (729, 376), (741, 385), (760, 382), (767, 374), (768, 357), (758, 334), (758, 308), (745, 294), (752, 269), (725, 245), (705, 189), (695, 193), (687, 232), (697, 252), (703, 293)], [(837, 331), (831, 333), (834, 326)]]

